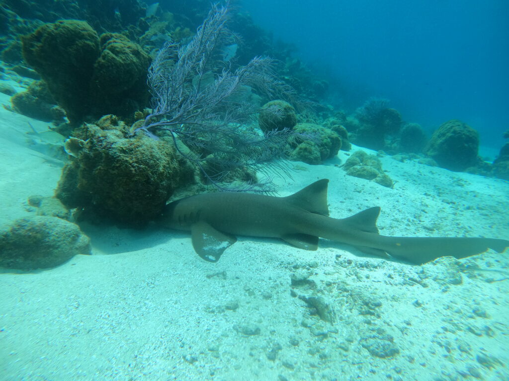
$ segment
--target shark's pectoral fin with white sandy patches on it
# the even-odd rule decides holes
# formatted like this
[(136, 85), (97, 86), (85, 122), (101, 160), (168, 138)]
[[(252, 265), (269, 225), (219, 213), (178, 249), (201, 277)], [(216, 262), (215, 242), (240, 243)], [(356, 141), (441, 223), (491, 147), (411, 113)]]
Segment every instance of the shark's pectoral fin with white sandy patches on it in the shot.
[(237, 242), (236, 237), (219, 232), (205, 221), (191, 226), (191, 240), (194, 251), (208, 262), (219, 261), (223, 251)]

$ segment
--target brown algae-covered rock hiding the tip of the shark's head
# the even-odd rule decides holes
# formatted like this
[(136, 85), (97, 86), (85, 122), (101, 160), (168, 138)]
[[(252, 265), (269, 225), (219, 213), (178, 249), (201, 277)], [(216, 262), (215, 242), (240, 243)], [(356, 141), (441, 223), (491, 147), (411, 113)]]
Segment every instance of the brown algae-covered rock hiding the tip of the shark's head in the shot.
[(131, 136), (112, 115), (84, 123), (73, 135), (83, 144), (64, 167), (55, 192), (68, 208), (143, 225), (160, 214), (175, 189), (193, 181), (193, 169), (170, 138)]

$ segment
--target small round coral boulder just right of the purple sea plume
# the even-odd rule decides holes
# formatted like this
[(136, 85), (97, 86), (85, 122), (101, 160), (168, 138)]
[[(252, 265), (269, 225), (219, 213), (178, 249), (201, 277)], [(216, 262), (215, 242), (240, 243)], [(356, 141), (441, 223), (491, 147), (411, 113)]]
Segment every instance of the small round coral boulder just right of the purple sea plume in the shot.
[(258, 124), (264, 133), (272, 130), (292, 129), (297, 124), (297, 114), (288, 102), (270, 101), (262, 106), (258, 116)]

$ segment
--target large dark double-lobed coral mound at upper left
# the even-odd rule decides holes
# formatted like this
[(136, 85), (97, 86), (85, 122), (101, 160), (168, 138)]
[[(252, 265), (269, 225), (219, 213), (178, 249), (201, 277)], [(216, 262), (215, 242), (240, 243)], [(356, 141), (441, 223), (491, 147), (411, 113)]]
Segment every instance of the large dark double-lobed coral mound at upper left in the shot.
[(122, 35), (99, 38), (84, 21), (60, 20), (21, 41), (24, 59), (75, 125), (108, 113), (127, 118), (148, 104), (150, 58)]

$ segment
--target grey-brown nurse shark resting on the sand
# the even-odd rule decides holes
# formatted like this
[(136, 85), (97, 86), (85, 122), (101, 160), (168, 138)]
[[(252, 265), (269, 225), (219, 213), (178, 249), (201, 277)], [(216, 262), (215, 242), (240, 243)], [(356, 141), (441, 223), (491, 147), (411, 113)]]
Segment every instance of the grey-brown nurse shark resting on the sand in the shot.
[(379, 207), (343, 219), (329, 217), (328, 182), (318, 180), (288, 197), (246, 193), (187, 197), (166, 205), (162, 224), (191, 231), (194, 250), (209, 262), (217, 262), (238, 235), (280, 238), (306, 250), (316, 250), (322, 237), (413, 264), (445, 256), (470, 257), (489, 248), (502, 252), (509, 246), (508, 240), (496, 238), (383, 236), (376, 227)]

